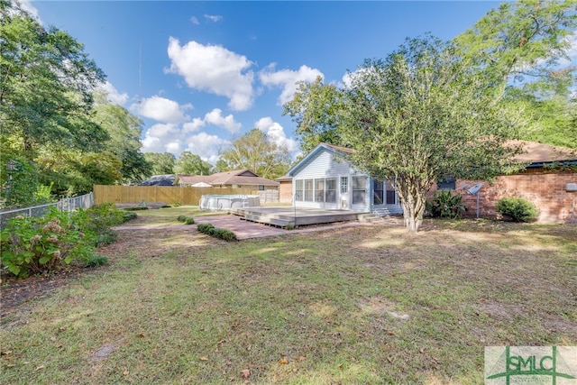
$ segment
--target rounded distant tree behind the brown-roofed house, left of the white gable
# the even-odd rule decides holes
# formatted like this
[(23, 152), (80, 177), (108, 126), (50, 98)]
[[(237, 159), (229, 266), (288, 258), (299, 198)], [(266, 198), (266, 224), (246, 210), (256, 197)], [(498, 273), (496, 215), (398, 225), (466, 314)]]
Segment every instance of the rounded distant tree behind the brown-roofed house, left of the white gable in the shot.
[(262, 178), (275, 179), (289, 170), (289, 150), (271, 142), (266, 133), (253, 128), (220, 152), (216, 167), (226, 170), (252, 170)]

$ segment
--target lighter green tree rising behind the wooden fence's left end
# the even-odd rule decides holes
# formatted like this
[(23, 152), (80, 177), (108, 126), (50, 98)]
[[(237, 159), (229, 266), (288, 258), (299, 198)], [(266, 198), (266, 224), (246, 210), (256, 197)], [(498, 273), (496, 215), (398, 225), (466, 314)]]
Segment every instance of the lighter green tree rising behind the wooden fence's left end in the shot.
[(151, 176), (151, 164), (141, 152), (142, 120), (130, 114), (124, 107), (109, 103), (105, 94), (96, 93), (96, 124), (103, 127), (110, 139), (106, 150), (121, 162), (123, 182), (139, 182)]

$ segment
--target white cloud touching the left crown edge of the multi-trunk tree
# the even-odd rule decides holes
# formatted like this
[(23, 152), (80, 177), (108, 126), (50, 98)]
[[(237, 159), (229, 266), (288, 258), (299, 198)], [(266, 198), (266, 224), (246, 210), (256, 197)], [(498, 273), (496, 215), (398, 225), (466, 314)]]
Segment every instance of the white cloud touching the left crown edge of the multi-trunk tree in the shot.
[(271, 64), (266, 69), (262, 70), (259, 74), (261, 83), (268, 87), (280, 86), (282, 87), (282, 92), (279, 96), (279, 105), (284, 105), (285, 103), (292, 100), (297, 92), (299, 81), (313, 82), (317, 77), (324, 78), (324, 75), (318, 69), (311, 69), (307, 66), (300, 66), (298, 71), (293, 71), (291, 69), (281, 69), (279, 71), (274, 71), (275, 65)]

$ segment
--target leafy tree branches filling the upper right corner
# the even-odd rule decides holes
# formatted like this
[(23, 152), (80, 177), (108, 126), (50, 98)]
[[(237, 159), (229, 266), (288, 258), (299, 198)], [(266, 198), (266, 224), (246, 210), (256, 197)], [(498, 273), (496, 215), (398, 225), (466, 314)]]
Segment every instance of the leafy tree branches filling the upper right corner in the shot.
[(522, 0), (499, 5), (454, 39), (472, 65), (526, 112), (524, 139), (577, 148), (577, 86), (567, 52), (577, 2)]

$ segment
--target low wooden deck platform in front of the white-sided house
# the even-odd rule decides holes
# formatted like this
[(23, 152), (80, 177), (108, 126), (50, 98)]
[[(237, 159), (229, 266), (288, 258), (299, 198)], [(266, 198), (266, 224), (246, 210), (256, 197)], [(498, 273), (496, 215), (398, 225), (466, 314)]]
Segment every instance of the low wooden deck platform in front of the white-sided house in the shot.
[(255, 206), (231, 208), (230, 213), (239, 215), (242, 219), (260, 224), (279, 227), (330, 224), (334, 222), (356, 221), (358, 213), (350, 210), (328, 210), (322, 208), (304, 208), (291, 206)]

